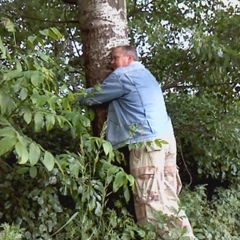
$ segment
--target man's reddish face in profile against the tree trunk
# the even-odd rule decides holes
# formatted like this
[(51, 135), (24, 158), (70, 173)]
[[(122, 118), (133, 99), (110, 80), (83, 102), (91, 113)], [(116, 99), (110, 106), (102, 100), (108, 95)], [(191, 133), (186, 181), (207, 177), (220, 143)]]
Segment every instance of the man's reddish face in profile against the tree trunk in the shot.
[(121, 48), (116, 48), (113, 50), (112, 53), (112, 67), (113, 69), (117, 69), (119, 67), (126, 67), (128, 66), (132, 61), (132, 57), (129, 54), (125, 54), (124, 51)]

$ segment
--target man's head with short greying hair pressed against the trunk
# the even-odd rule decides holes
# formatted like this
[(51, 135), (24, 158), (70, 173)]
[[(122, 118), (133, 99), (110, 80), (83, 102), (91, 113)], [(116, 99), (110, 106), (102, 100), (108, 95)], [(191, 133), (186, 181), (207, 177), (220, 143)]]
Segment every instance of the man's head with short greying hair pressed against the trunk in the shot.
[(138, 61), (137, 51), (131, 45), (118, 46), (112, 51), (112, 67), (117, 69), (119, 67), (127, 67), (134, 61)]

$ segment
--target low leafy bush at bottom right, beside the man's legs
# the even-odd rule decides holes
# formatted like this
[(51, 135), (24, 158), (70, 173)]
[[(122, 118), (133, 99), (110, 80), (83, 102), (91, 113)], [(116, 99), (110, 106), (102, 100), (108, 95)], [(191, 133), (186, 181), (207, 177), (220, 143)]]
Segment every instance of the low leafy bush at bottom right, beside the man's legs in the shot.
[[(206, 186), (198, 186), (195, 195), (185, 191), (181, 200), (188, 202), (187, 214), (193, 222), (198, 239), (232, 240), (239, 238), (239, 186), (216, 190), (211, 201), (206, 195)], [(197, 209), (197, 211), (196, 211)]]

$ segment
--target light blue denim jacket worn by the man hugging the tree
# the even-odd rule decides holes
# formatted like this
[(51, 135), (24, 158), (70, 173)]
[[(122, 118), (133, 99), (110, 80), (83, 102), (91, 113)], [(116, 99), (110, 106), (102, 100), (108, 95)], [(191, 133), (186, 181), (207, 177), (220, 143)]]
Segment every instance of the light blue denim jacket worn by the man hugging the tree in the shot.
[(88, 88), (91, 94), (80, 98), (80, 103), (109, 102), (107, 140), (114, 148), (173, 135), (162, 90), (140, 62), (117, 68), (100, 86), (102, 91), (97, 92)]

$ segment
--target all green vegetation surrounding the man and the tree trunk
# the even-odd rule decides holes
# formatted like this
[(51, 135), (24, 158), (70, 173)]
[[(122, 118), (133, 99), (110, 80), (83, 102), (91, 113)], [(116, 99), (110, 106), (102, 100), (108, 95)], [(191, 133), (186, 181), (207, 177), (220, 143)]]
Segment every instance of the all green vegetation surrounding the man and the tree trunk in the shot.
[[(94, 112), (78, 104), (76, 6), (0, 6), (0, 239), (157, 239), (126, 211), (123, 156), (105, 129), (92, 136)], [(240, 235), (239, 20), (237, 6), (218, 0), (128, 1), (129, 39), (164, 90), (198, 239)], [(119, 199), (106, 207), (112, 192)], [(177, 230), (169, 239), (183, 239)]]

